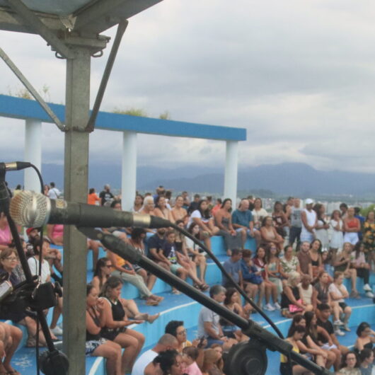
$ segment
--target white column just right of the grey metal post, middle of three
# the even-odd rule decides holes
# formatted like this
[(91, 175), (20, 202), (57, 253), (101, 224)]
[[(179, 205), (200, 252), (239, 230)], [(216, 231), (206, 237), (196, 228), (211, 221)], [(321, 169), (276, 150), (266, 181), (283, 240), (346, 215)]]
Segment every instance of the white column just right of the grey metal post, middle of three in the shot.
[(122, 136), (122, 209), (129, 211), (137, 188), (137, 133), (124, 132)]

